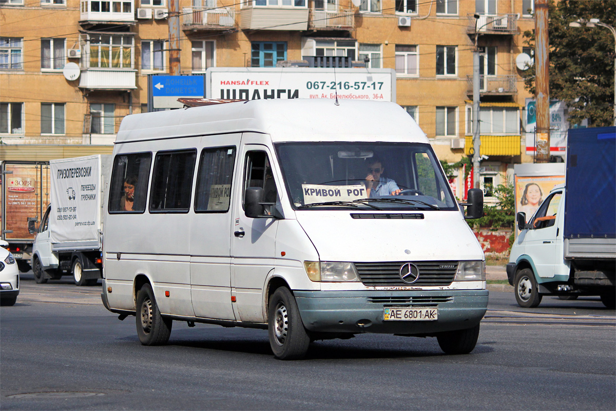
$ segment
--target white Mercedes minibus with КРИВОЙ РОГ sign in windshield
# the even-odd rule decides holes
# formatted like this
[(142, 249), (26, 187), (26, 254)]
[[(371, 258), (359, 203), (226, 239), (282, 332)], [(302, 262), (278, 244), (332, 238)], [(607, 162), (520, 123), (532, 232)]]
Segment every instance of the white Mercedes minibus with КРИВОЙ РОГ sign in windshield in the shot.
[[(474, 349), (485, 258), (419, 126), (391, 102), (251, 100), (124, 118), (102, 300), (142, 344), (173, 321), (269, 330), (280, 359), (359, 333)], [(463, 206), (468, 207), (464, 216)]]

